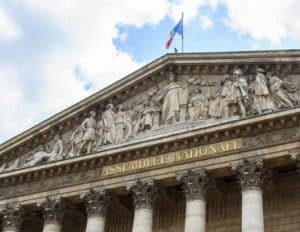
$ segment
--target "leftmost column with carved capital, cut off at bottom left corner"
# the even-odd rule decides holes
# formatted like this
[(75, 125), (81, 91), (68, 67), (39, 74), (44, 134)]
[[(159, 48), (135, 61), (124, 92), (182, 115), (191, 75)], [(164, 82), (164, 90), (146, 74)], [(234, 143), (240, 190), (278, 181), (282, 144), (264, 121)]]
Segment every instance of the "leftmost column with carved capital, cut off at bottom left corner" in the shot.
[(24, 218), (24, 209), (21, 205), (8, 205), (2, 212), (2, 231), (19, 232)]

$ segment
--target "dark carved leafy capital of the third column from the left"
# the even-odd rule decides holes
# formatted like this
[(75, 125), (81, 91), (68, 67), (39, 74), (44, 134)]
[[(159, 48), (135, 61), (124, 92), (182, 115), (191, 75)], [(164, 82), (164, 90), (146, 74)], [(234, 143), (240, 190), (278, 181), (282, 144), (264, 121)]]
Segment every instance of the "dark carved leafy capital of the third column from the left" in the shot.
[(90, 189), (89, 192), (83, 193), (81, 198), (84, 199), (88, 215), (104, 216), (112, 203), (112, 198), (108, 196), (107, 191), (103, 188)]

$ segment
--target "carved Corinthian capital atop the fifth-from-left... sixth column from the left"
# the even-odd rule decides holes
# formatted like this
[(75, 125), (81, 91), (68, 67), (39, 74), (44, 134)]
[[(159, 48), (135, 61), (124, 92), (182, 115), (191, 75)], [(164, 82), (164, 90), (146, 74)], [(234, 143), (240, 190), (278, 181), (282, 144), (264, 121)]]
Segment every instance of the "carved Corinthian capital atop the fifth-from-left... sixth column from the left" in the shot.
[(264, 181), (270, 176), (270, 170), (261, 158), (245, 159), (236, 167), (238, 182), (242, 191), (251, 188), (262, 188)]

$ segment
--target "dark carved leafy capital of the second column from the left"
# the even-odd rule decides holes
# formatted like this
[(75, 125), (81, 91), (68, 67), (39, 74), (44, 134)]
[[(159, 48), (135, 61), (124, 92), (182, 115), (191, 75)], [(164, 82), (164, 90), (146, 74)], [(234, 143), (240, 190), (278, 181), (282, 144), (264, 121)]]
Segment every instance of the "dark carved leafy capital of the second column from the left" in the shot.
[(41, 207), (43, 209), (45, 224), (60, 224), (62, 222), (65, 202), (61, 197), (47, 197), (44, 201), (38, 203), (38, 207)]

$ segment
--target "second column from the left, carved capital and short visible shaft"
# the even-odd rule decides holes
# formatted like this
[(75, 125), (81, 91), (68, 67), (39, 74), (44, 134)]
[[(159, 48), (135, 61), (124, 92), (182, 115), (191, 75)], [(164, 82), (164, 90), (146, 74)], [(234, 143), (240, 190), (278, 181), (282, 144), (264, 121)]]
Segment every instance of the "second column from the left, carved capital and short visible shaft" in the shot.
[(47, 197), (45, 201), (38, 203), (38, 206), (44, 210), (43, 232), (60, 232), (65, 208), (63, 199), (61, 197)]

